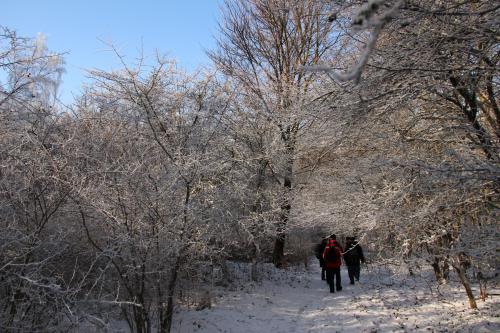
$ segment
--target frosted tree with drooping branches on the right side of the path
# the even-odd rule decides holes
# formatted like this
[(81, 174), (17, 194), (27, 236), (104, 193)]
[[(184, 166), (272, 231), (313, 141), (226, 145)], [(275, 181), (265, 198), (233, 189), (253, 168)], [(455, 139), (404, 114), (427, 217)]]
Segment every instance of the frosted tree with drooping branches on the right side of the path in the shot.
[[(375, 238), (401, 256), (427, 252), (438, 276), (451, 260), (472, 307), (469, 261), (483, 270), (496, 265), (497, 12), (488, 2), (369, 1), (353, 19), (353, 43), (365, 49), (340, 71), (358, 79), (350, 111), (374, 122), (364, 134), (385, 137), (374, 147), (386, 166), (375, 169), (382, 187), (372, 203), (386, 207)], [(346, 78), (316, 69), (335, 82)]]

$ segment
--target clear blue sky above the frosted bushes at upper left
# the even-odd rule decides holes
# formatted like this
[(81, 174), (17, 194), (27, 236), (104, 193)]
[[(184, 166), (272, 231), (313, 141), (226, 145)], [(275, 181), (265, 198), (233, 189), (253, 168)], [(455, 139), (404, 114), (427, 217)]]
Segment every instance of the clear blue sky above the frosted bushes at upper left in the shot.
[[(188, 71), (209, 64), (204, 52), (214, 46), (222, 0), (6, 0), (0, 25), (23, 37), (43, 33), (51, 51), (66, 54), (60, 88), (63, 102), (72, 101), (85, 69), (113, 69), (119, 64), (100, 40), (112, 42), (133, 63), (141, 47), (155, 50)], [(141, 46), (142, 45), (142, 46)]]

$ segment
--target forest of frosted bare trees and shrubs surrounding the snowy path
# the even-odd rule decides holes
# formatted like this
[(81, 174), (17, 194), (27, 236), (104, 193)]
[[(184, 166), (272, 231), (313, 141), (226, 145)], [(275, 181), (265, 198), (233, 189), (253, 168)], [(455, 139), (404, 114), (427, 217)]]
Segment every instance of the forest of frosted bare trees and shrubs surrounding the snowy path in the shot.
[(499, 9), (226, 0), (211, 68), (115, 50), (70, 106), (64, 56), (0, 26), (0, 331), (169, 332), (228, 260), (257, 280), (331, 232), (455, 274), (477, 307), (499, 266)]

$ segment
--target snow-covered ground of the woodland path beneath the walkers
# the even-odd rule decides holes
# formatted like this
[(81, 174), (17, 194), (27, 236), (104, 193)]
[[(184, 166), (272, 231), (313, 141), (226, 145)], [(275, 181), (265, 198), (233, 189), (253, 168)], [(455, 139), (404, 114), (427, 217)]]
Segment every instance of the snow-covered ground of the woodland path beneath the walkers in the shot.
[(343, 290), (330, 294), (316, 263), (309, 271), (264, 266), (261, 283), (216, 290), (211, 309), (178, 308), (172, 332), (500, 332), (498, 296), (470, 310), (457, 282), (438, 290), (430, 272), (421, 274), (365, 268), (351, 286), (343, 267)]

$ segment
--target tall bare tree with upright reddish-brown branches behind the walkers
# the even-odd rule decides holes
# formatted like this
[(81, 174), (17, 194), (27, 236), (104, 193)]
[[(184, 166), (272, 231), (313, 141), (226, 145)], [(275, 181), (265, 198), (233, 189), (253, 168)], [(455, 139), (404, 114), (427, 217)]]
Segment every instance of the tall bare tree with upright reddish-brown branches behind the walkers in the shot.
[[(297, 141), (310, 123), (305, 105), (314, 75), (302, 68), (317, 64), (333, 45), (325, 8), (317, 1), (227, 1), (217, 49), (210, 53), (216, 67), (239, 83), (240, 94), (258, 101), (253, 112), (274, 125), (273, 139), (281, 145), (273, 169), (281, 191), (273, 250), (277, 266), (283, 264), (293, 207)], [(262, 160), (261, 169), (270, 162)]]

